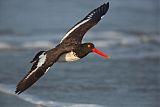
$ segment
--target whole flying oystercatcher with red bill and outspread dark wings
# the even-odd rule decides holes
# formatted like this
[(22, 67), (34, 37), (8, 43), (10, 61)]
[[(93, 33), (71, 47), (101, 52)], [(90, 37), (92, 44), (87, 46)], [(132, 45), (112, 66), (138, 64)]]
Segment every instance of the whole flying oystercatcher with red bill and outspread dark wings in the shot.
[(31, 70), (18, 83), (15, 93), (20, 94), (32, 86), (57, 61), (76, 61), (90, 52), (95, 52), (105, 58), (108, 55), (97, 50), (93, 43), (82, 43), (84, 34), (96, 25), (109, 9), (109, 2), (91, 11), (83, 20), (72, 27), (62, 38), (60, 43), (48, 51), (40, 51), (33, 58)]

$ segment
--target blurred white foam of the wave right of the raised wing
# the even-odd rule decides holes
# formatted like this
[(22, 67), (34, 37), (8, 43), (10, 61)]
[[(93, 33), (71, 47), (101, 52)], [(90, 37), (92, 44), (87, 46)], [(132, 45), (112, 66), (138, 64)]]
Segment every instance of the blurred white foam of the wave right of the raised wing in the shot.
[[(89, 39), (91, 39), (95, 46), (98, 47), (109, 47), (109, 46), (137, 46), (143, 43), (160, 43), (159, 35), (138, 35), (138, 34), (129, 34), (125, 32), (118, 31), (106, 31), (106, 32), (89, 32)], [(84, 41), (87, 42), (87, 41)]]

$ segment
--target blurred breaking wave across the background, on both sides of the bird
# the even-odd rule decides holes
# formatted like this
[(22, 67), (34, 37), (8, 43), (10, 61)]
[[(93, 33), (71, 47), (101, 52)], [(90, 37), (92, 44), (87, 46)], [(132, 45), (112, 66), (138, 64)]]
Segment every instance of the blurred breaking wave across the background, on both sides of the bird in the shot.
[[(53, 36), (53, 37), (52, 37)], [(0, 37), (1, 49), (53, 48), (58, 44), (57, 35), (35, 35), (31, 37)], [(56, 36), (56, 37), (55, 37)], [(53, 42), (54, 41), (54, 42)], [(135, 34), (118, 31), (89, 32), (84, 42), (91, 41), (96, 47), (137, 46), (142, 43), (160, 44), (160, 36), (156, 34)]]

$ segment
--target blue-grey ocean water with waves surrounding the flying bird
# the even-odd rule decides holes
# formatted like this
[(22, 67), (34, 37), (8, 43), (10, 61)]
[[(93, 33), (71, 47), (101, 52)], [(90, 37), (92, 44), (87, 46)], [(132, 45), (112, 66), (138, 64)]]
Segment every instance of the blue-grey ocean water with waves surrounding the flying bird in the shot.
[(107, 15), (84, 42), (94, 53), (56, 63), (32, 87), (15, 95), (39, 50), (53, 48), (65, 32), (106, 0), (0, 1), (1, 107), (159, 107), (159, 0), (109, 0)]

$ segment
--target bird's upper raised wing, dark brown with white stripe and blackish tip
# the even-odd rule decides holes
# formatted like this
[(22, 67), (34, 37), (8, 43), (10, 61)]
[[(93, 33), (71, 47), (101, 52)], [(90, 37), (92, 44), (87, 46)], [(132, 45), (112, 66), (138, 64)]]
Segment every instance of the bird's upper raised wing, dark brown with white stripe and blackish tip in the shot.
[(94, 25), (96, 25), (103, 15), (109, 9), (109, 2), (104, 3), (100, 7), (91, 11), (83, 20), (78, 22), (74, 27), (72, 27), (62, 38), (60, 43), (75, 43), (80, 44), (84, 34)]

